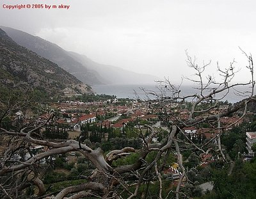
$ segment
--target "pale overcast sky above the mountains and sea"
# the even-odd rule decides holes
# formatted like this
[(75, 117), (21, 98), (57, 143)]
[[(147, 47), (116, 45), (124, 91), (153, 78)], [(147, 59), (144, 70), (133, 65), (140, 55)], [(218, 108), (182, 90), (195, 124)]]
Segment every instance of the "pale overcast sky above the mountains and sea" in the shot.
[[(2, 4), (68, 4), (68, 10), (4, 10)], [(0, 25), (37, 35), (67, 51), (134, 72), (193, 77), (185, 50), (196, 60), (228, 67), (236, 59), (237, 81), (246, 52), (256, 53), (256, 1), (193, 0), (1, 0)]]

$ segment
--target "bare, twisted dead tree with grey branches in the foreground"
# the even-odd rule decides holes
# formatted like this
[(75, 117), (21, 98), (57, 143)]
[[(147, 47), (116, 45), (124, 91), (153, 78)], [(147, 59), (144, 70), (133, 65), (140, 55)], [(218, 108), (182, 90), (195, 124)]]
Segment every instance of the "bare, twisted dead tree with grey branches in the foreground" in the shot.
[[(243, 52), (243, 51), (242, 51)], [(150, 136), (143, 139), (143, 147), (140, 151), (135, 151), (134, 148), (126, 147), (122, 150), (113, 150), (106, 157), (101, 148), (92, 149), (86, 144), (76, 140), (58, 140), (44, 139), (38, 134), (38, 129), (44, 128), (47, 124), (54, 120), (54, 113), (51, 113), (45, 120), (34, 121), (26, 124), (19, 131), (12, 129), (1, 128), (0, 132), (4, 139), (8, 140), (8, 148), (4, 150), (3, 159), (1, 159), (0, 167), (0, 194), (3, 198), (22, 198), (24, 190), (30, 186), (36, 186), (38, 191), (34, 198), (44, 198), (47, 195), (54, 195), (54, 198), (84, 198), (84, 197), (99, 197), (99, 198), (134, 198), (138, 196), (142, 184), (148, 185), (149, 182), (159, 183), (158, 197), (163, 198), (163, 168), (166, 166), (166, 159), (170, 153), (176, 154), (177, 163), (179, 164), (181, 175), (175, 189), (170, 190), (175, 198), (186, 198), (186, 195), (180, 193), (180, 186), (186, 177), (186, 171), (182, 164), (180, 155), (180, 143), (185, 143), (193, 150), (197, 150), (202, 154), (208, 154), (214, 150), (216, 154), (220, 154), (223, 161), (228, 161), (223, 148), (221, 147), (221, 133), (227, 129), (227, 126), (221, 125), (221, 118), (232, 113), (240, 111), (243, 113), (236, 122), (243, 120), (246, 115), (247, 104), (255, 101), (253, 97), (253, 89), (255, 81), (253, 79), (253, 60), (251, 55), (243, 52), (248, 60), (248, 70), (251, 74), (251, 79), (248, 83), (232, 83), (232, 79), (237, 71), (234, 67), (234, 61), (226, 69), (218, 67), (218, 72), (222, 78), (220, 81), (216, 77), (205, 76), (205, 68), (211, 62), (203, 64), (202, 67), (197, 65), (195, 59), (187, 54), (188, 66), (196, 71), (196, 78), (190, 79), (196, 89), (196, 92), (191, 95), (183, 96), (180, 86), (175, 86), (169, 79), (158, 81), (159, 92), (144, 90), (147, 97), (153, 96), (150, 102), (156, 106), (156, 109), (161, 111), (161, 120), (168, 123), (168, 135), (160, 143), (152, 143), (152, 138), (156, 136), (159, 129), (146, 125)], [(188, 78), (187, 78), (188, 79)], [(238, 92), (238, 86), (250, 85), (250, 91)], [(225, 109), (219, 109), (220, 101), (227, 95), (230, 90), (236, 90), (239, 95), (245, 96), (243, 101), (228, 106)], [(147, 103), (147, 102), (145, 102)], [(184, 106), (190, 104), (188, 115), (181, 117), (179, 111)], [(230, 123), (230, 126), (234, 125)], [(207, 123), (211, 130), (214, 130), (214, 138), (204, 145), (195, 145), (191, 139), (184, 133), (185, 127), (198, 127)], [(180, 135), (185, 137), (185, 141), (180, 140)], [(209, 143), (215, 139), (216, 148), (208, 147)], [(29, 153), (31, 145), (42, 145), (47, 150), (39, 154), (31, 156), (30, 159), (13, 159), (13, 155)], [(40, 162), (50, 157), (51, 155), (65, 154), (67, 152), (81, 152), (94, 166), (92, 172), (84, 183), (77, 186), (69, 186), (61, 189), (58, 193), (47, 193), (42, 181), (42, 173), (40, 171)], [(146, 158), (150, 152), (154, 151), (155, 156), (151, 162), (147, 162)], [(140, 154), (140, 158), (134, 160), (133, 164), (122, 165), (118, 167), (112, 166), (113, 161), (125, 157), (130, 153)], [(161, 159), (161, 162), (159, 161)], [(129, 179), (129, 180), (128, 180)], [(132, 180), (131, 180), (132, 179)], [(186, 177), (187, 180), (188, 177)], [(130, 187), (134, 187), (131, 191)], [(146, 193), (147, 194), (147, 193)]]

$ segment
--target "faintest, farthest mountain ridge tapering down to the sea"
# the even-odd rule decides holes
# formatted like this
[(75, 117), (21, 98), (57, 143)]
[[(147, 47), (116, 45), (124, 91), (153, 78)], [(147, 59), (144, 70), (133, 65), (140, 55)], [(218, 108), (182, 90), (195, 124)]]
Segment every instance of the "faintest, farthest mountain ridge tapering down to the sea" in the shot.
[(108, 80), (109, 84), (154, 84), (154, 81), (159, 79), (156, 76), (138, 74), (123, 68), (99, 64), (76, 52), (69, 52), (69, 54), (86, 67), (96, 70), (100, 76)]

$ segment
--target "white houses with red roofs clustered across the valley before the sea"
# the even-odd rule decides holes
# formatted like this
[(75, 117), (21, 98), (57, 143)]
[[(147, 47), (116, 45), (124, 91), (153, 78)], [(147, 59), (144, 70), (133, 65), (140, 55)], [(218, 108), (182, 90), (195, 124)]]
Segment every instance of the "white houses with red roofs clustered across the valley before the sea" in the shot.
[[(56, 120), (53, 126), (45, 127), (42, 131), (49, 131), (49, 138), (63, 139), (63, 134), (66, 135), (66, 137), (64, 136), (65, 139), (79, 140), (83, 138), (81, 139), (82, 141), (90, 142), (92, 146), (100, 146), (106, 152), (124, 147), (134, 147), (138, 150), (148, 139), (147, 125), (158, 129), (159, 133), (152, 138), (152, 143), (159, 143), (163, 141), (164, 135), (170, 131), (168, 121), (163, 118), (163, 115), (168, 115), (170, 120), (173, 120), (173, 116), (177, 117), (176, 120), (186, 120), (189, 116), (187, 108), (189, 107), (189, 102), (181, 107), (175, 103), (163, 107), (159, 106), (157, 102), (143, 102), (131, 99), (122, 99), (121, 101), (119, 99), (93, 102), (67, 100), (51, 103), (47, 105), (47, 109), (51, 109), (56, 113)], [(228, 103), (222, 104), (218, 109), (213, 109), (211, 113), (218, 113), (218, 111), (225, 109), (228, 109)], [(47, 118), (49, 113), (40, 115), (38, 120)], [(175, 115), (176, 113), (177, 115)], [(17, 115), (19, 114), (17, 113)], [(248, 122), (247, 120), (248, 118), (239, 120), (239, 115), (232, 115), (221, 118), (221, 125), (225, 131), (228, 131), (232, 129), (233, 124), (238, 127), (243, 122)], [(183, 139), (184, 143), (185, 141), (191, 141), (197, 145), (210, 141), (212, 148), (217, 145), (216, 135), (218, 134), (218, 129), (210, 127), (207, 123), (201, 127), (184, 127), (181, 130), (184, 136), (181, 136), (180, 139)], [(54, 134), (53, 137), (52, 134)], [(246, 135), (248, 153), (244, 152), (243, 155), (248, 158), (253, 157), (252, 145), (256, 142), (256, 135), (253, 132), (246, 132)], [(36, 147), (40, 148), (40, 146), (34, 146), (31, 149), (35, 150)], [(68, 163), (77, 161), (74, 156), (78, 157), (78, 155), (75, 152), (70, 152), (67, 154), (66, 160), (68, 160)], [(176, 156), (175, 154), (173, 155), (174, 157)], [(188, 148), (184, 150), (182, 161), (184, 161), (186, 170), (195, 170), (198, 166), (207, 168), (208, 165), (221, 159), (219, 155), (211, 152), (197, 155), (197, 157), (191, 155)], [(55, 157), (52, 157), (52, 160), (55, 159)], [(164, 173), (169, 179), (173, 180), (173, 183), (177, 183), (180, 175), (182, 175), (179, 170), (179, 164), (175, 161), (164, 170)], [(184, 178), (185, 181), (186, 178)], [(207, 184), (204, 191), (211, 188), (212, 186)]]

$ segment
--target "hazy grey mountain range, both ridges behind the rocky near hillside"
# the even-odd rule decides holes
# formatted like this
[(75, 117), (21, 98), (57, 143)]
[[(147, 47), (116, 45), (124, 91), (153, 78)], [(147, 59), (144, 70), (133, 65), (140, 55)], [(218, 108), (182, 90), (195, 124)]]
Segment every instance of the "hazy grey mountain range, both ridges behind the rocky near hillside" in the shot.
[(56, 44), (17, 29), (3, 26), (0, 28), (4, 29), (17, 44), (57, 63), (86, 84), (152, 84), (158, 79), (154, 76), (97, 63), (84, 55), (65, 51)]

